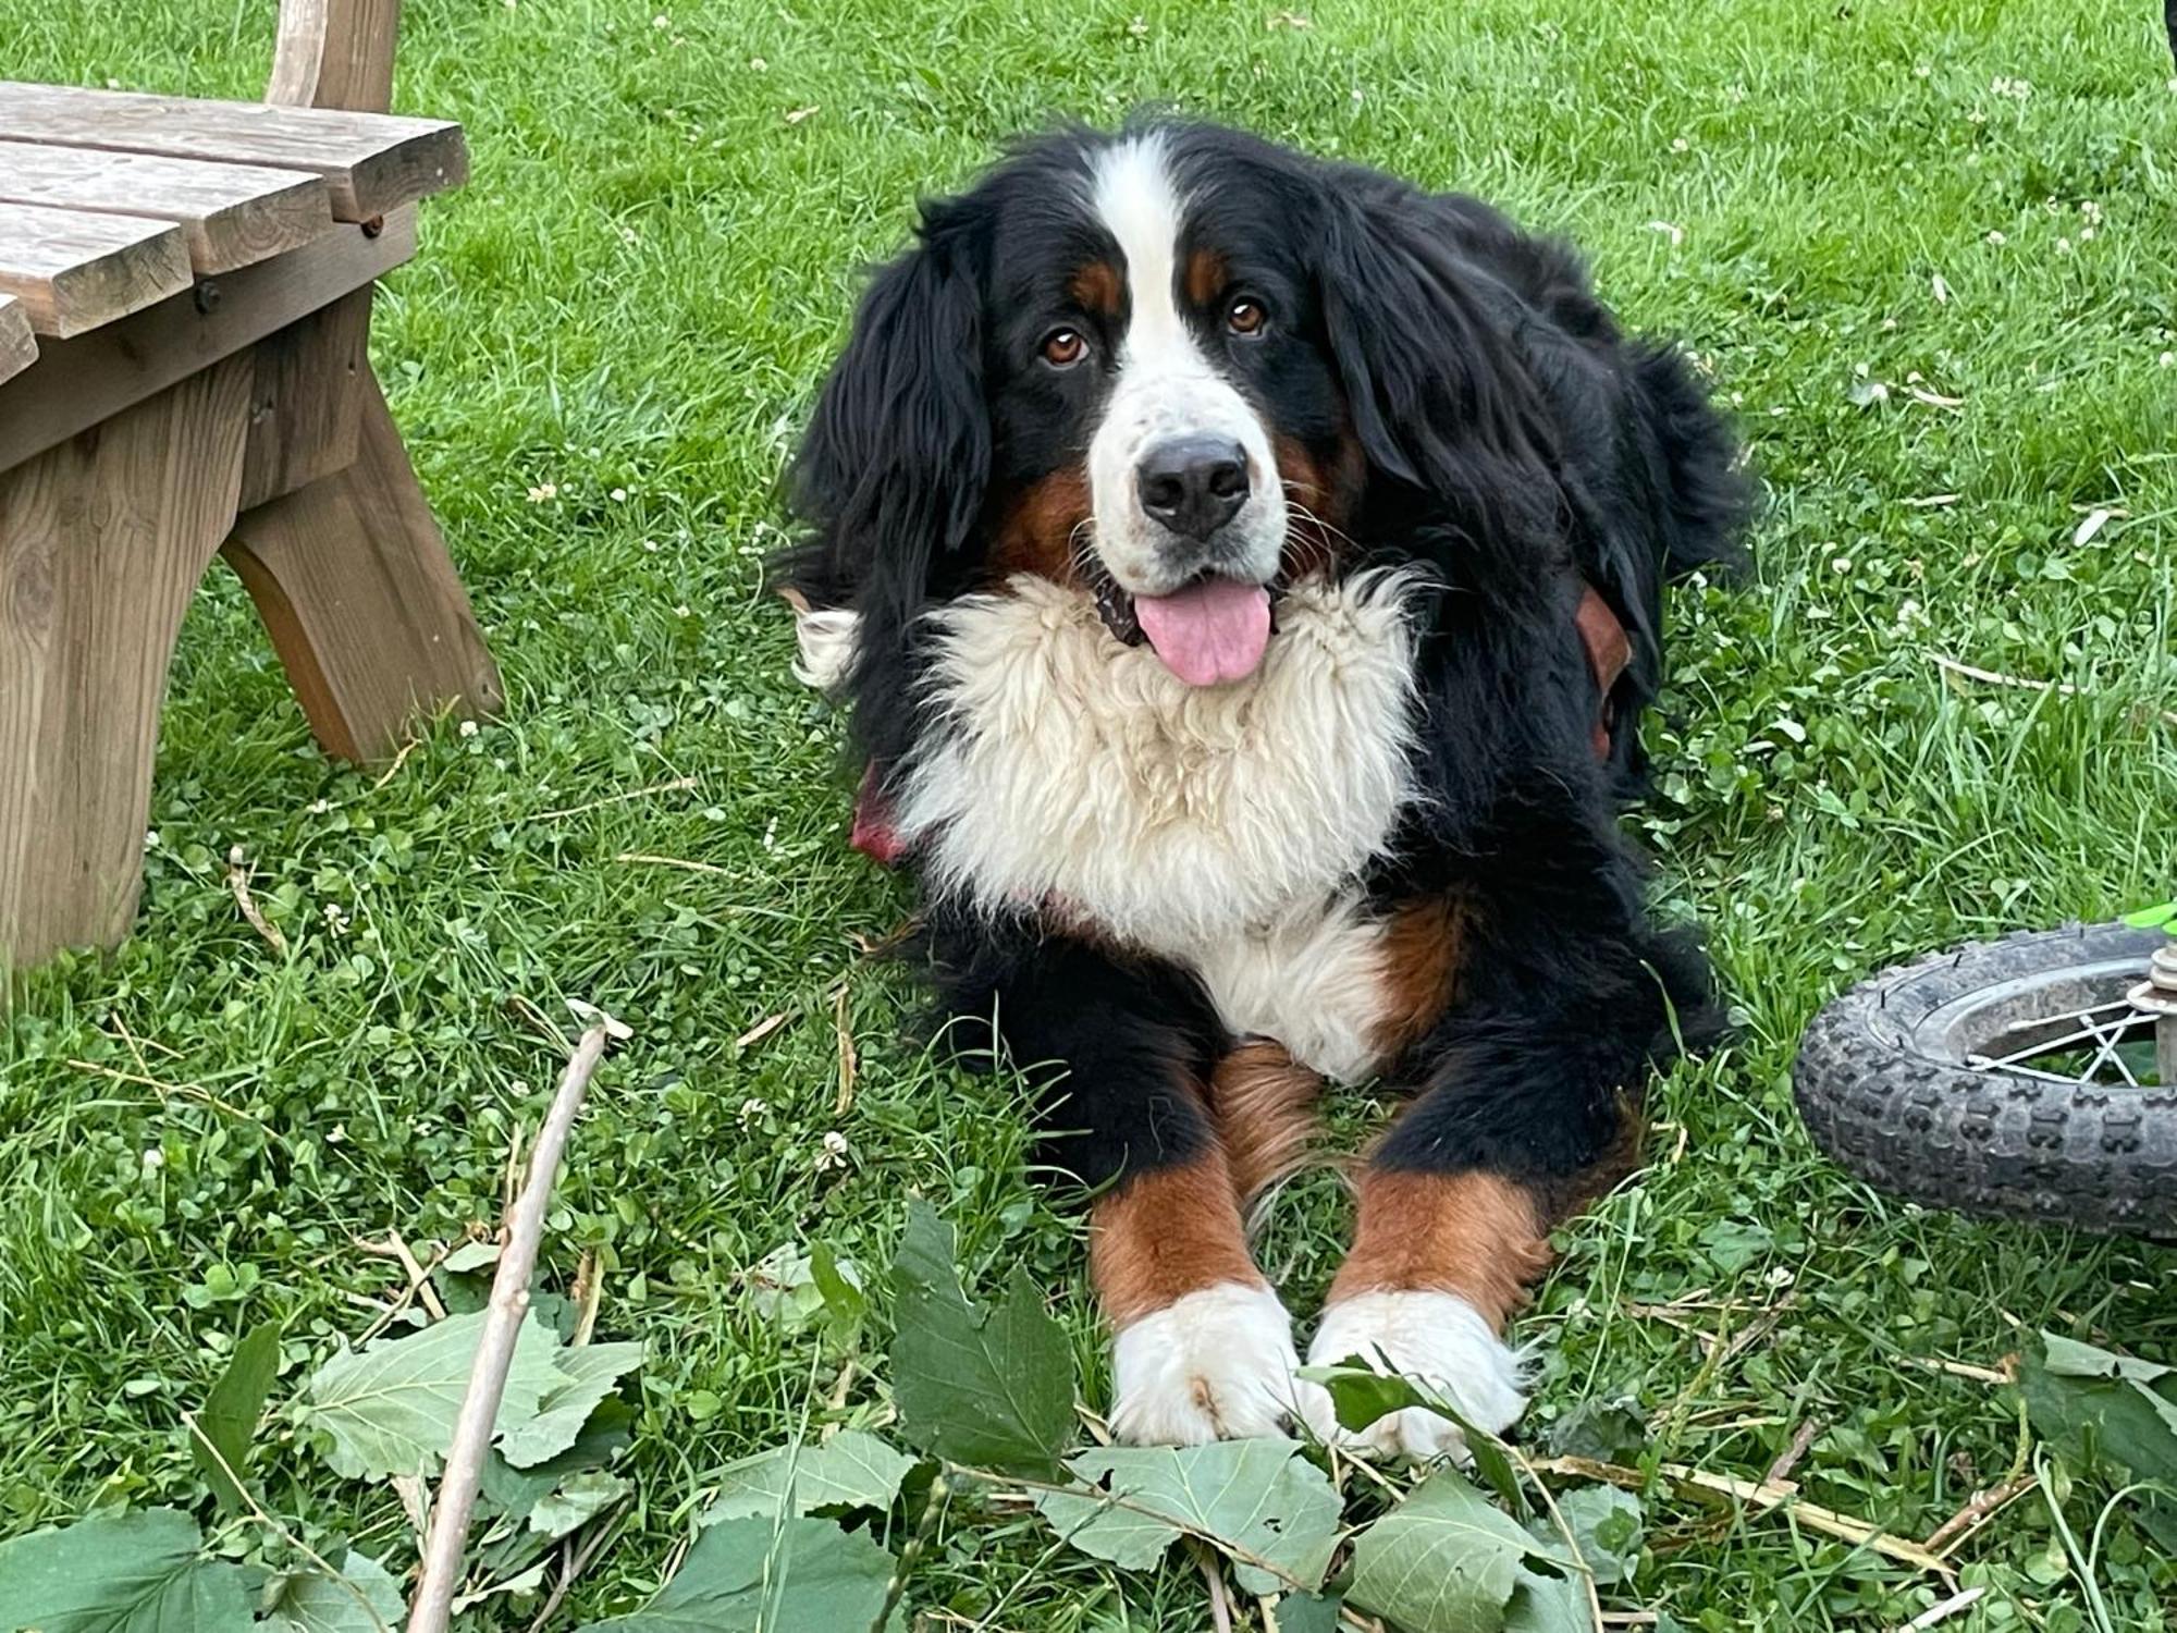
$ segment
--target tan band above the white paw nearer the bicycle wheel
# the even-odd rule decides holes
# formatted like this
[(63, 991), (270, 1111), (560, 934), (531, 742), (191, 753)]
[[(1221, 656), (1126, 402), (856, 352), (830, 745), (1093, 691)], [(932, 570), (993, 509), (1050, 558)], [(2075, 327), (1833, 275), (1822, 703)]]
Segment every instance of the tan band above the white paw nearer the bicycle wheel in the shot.
[(1361, 1176), (1354, 1245), (1326, 1304), (1358, 1293), (1459, 1293), (1498, 1330), (1550, 1265), (1535, 1195), (1500, 1174)]

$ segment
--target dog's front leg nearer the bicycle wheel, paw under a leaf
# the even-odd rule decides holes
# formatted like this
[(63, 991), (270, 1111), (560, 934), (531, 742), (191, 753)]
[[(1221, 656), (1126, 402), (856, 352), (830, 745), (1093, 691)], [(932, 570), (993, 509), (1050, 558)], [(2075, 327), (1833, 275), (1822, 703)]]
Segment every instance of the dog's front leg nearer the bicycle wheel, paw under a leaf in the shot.
[[(1308, 1348), (1317, 1365), (1361, 1356), (1422, 1378), (1489, 1433), (1526, 1409), (1504, 1326), (1550, 1261), (1550, 1226), (1633, 1169), (1674, 1010), (1707, 1026), (1700, 958), (1644, 925), (1628, 875), (1552, 877), (1578, 854), (1554, 847), (1539, 877), (1506, 862), (1469, 895), (1456, 997), (1406, 1056), (1417, 1097), (1361, 1167), (1354, 1243)], [(1311, 1422), (1376, 1454), (1461, 1448), (1424, 1409), (1358, 1437)]]

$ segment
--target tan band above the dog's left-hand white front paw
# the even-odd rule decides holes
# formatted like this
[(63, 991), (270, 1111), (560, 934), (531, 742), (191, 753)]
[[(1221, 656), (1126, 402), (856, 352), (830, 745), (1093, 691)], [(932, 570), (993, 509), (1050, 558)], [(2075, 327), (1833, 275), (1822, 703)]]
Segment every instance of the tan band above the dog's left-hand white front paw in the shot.
[(1267, 1287), (1247, 1254), (1226, 1154), (1213, 1145), (1099, 1195), (1088, 1208), (1088, 1280), (1112, 1328), (1219, 1282)]

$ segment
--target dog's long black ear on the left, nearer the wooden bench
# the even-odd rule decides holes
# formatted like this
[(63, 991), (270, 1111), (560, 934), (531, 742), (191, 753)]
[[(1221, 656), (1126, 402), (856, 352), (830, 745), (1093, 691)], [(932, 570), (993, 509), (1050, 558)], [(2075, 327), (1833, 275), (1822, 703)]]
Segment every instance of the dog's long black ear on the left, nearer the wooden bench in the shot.
[(851, 605), (864, 651), (906, 629), (982, 512), (991, 418), (973, 237), (962, 205), (923, 207), (914, 248), (862, 296), (790, 472), (810, 540), (782, 577), (819, 607)]

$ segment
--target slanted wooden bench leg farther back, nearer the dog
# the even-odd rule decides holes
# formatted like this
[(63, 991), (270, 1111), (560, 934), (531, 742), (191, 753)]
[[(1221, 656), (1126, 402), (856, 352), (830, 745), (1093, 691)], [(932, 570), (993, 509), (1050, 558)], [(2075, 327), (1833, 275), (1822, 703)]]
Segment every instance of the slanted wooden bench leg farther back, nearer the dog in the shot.
[(374, 379), (355, 464), (244, 512), (226, 560), (327, 753), (383, 760), (418, 712), (499, 710), (499, 671)]

